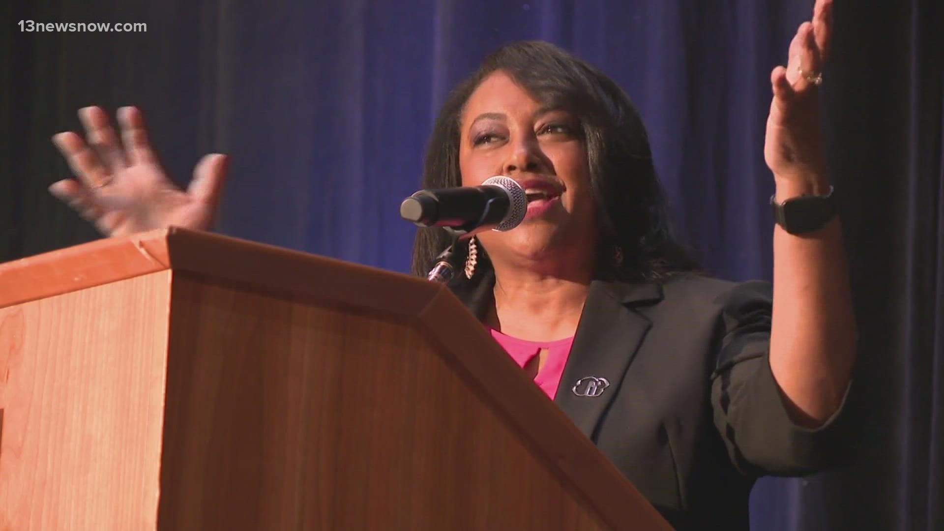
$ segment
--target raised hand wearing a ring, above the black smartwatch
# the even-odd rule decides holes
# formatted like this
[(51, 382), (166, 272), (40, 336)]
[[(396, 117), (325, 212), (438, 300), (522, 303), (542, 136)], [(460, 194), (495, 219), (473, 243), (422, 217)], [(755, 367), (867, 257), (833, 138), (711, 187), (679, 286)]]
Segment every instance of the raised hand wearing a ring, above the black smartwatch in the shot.
[(790, 43), (786, 67), (770, 74), (773, 101), (767, 117), (764, 159), (782, 187), (824, 194), (826, 162), (819, 119), (819, 83), (833, 32), (833, 0), (817, 0), (813, 22)]

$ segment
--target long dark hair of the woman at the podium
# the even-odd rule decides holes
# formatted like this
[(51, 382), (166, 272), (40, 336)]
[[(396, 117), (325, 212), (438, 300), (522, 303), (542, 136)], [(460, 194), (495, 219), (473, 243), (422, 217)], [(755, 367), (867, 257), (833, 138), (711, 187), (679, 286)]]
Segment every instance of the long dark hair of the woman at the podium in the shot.
[[(550, 43), (507, 44), (452, 90), (432, 130), (422, 187), (462, 185), (459, 145), (464, 106), (482, 80), (499, 70), (542, 105), (571, 111), (581, 121), (600, 228), (595, 278), (632, 282), (696, 269), (695, 261), (672, 235), (646, 128), (629, 96), (597, 68)], [(413, 273), (426, 276), (450, 243), (443, 229), (417, 231)], [(456, 251), (464, 254), (467, 248), (460, 247)], [(614, 259), (616, 249), (621, 261)], [(480, 246), (472, 280), (459, 274), (450, 284), (464, 289), (490, 276), (494, 270)]]

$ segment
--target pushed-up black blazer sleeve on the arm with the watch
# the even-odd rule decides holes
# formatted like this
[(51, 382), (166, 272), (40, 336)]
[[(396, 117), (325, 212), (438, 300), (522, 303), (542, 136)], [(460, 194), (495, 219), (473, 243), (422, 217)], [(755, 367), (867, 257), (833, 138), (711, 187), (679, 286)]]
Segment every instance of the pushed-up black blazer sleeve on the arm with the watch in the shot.
[(837, 419), (849, 390), (823, 425), (795, 424), (770, 369), (771, 284), (736, 284), (720, 302), (712, 408), (733, 465), (759, 476), (801, 475), (833, 464), (840, 444)]

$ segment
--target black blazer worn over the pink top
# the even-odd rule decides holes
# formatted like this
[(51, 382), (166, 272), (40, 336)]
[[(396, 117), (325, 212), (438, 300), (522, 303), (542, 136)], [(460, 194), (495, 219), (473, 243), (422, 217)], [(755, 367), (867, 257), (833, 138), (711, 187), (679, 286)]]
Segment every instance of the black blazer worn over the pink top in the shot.
[[(481, 318), (493, 286), (458, 295)], [(816, 430), (787, 417), (770, 315), (769, 283), (590, 286), (554, 402), (678, 529), (748, 529), (758, 476), (833, 458), (838, 412)]]

